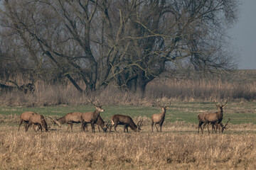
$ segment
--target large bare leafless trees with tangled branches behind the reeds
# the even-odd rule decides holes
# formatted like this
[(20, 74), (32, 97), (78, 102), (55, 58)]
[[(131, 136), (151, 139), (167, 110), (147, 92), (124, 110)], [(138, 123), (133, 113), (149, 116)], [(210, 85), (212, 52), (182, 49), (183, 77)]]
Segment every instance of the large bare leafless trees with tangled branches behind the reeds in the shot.
[[(235, 69), (235, 0), (1, 1), (0, 84), (20, 74), (72, 82), (81, 93), (144, 92), (166, 69)], [(174, 74), (174, 72), (172, 72)], [(78, 83), (86, 85), (86, 88)], [(13, 82), (15, 84), (15, 82)]]

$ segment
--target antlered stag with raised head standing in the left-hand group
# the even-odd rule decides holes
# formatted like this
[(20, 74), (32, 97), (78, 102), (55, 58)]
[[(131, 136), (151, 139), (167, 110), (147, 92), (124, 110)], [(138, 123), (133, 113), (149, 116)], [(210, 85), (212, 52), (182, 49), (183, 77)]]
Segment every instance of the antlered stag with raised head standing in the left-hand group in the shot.
[[(91, 100), (88, 100), (90, 103), (92, 103)], [(92, 103), (93, 106), (95, 106), (94, 112), (87, 112), (82, 113), (81, 119), (82, 119), (82, 130), (83, 126), (86, 126), (87, 123), (90, 123), (92, 125), (92, 132), (95, 132), (95, 123), (97, 123), (98, 118), (100, 117), (100, 113), (104, 112), (104, 109), (102, 109), (102, 105), (100, 105), (99, 101), (97, 101), (98, 105), (95, 103)]]

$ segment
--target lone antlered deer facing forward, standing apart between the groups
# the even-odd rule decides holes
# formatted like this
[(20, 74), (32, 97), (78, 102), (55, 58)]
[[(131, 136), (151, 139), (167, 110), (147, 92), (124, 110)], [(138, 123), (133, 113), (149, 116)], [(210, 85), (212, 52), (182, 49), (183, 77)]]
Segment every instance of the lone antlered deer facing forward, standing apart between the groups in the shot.
[[(155, 127), (156, 127), (156, 124), (159, 124), (160, 126), (160, 132), (161, 132), (161, 127), (164, 123), (164, 118), (165, 118), (165, 114), (166, 114), (166, 109), (169, 108), (169, 106), (171, 106), (171, 102), (169, 103), (169, 106), (160, 106), (159, 104), (159, 100), (157, 99), (157, 106), (159, 106), (159, 108), (161, 108), (161, 113), (159, 114), (154, 114), (152, 115), (151, 117), (151, 120), (152, 120), (152, 123), (151, 123), (151, 129), (152, 129), (152, 132), (153, 132), (153, 126), (155, 124)], [(159, 132), (158, 128), (156, 127), (156, 130), (157, 132)]]

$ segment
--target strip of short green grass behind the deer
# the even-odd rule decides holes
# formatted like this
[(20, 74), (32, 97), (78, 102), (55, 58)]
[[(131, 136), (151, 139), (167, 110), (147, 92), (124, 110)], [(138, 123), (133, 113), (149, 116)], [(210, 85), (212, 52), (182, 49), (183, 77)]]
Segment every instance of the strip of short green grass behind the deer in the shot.
[[(101, 116), (105, 120), (109, 120), (112, 115), (122, 114), (129, 115), (132, 118), (137, 116), (146, 116), (160, 113), (159, 107), (145, 106), (103, 106), (105, 112)], [(63, 116), (70, 112), (90, 112), (95, 111), (94, 106), (50, 106), (50, 107), (0, 107), (2, 115), (20, 115), (23, 112), (32, 111), (41, 115), (57, 115)], [(198, 123), (197, 115), (202, 112), (218, 111), (214, 103), (209, 102), (176, 102), (172, 103), (166, 111), (166, 122), (185, 121), (186, 123)], [(256, 124), (256, 105), (253, 102), (246, 103), (228, 103), (224, 108), (223, 114), (225, 119), (230, 118), (232, 124), (254, 123)], [(223, 121), (224, 121), (223, 120)]]

